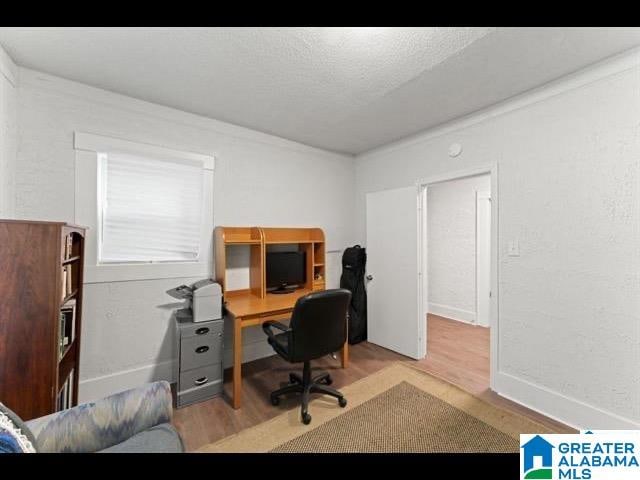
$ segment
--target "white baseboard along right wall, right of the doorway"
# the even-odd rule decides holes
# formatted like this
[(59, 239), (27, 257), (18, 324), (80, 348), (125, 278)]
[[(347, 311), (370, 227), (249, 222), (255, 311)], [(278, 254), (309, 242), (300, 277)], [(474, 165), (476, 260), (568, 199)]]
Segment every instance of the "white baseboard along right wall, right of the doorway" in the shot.
[(498, 395), (578, 430), (637, 430), (640, 422), (588, 405), (508, 373), (495, 376)]

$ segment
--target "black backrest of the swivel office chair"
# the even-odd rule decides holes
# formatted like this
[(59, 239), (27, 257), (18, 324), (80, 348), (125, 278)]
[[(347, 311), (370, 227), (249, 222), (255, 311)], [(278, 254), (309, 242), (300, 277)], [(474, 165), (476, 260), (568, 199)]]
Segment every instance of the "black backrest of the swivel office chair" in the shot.
[(296, 302), (289, 324), (293, 362), (313, 360), (342, 348), (347, 339), (351, 292), (344, 288), (313, 292)]

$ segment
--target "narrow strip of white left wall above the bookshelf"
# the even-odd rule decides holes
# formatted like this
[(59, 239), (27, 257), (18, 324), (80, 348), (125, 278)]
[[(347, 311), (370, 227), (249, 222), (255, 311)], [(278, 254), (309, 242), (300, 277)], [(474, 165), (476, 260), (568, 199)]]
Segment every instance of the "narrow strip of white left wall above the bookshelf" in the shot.
[(0, 218), (12, 218), (17, 142), (17, 67), (0, 46)]

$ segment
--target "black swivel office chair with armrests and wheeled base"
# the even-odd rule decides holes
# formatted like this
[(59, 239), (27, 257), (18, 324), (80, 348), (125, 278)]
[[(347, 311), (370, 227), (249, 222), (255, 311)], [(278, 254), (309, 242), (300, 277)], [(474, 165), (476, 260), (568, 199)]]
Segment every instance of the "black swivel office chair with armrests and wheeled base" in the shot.
[[(278, 405), (280, 396), (302, 393), (302, 422), (309, 424), (309, 395), (324, 393), (338, 399), (341, 407), (347, 405), (342, 393), (329, 387), (332, 380), (328, 373), (311, 378), (310, 361), (340, 350), (347, 339), (347, 309), (351, 292), (339, 288), (310, 293), (300, 297), (293, 308), (289, 326), (269, 321), (262, 329), (269, 337), (269, 345), (278, 355), (291, 363), (304, 362), (302, 377), (289, 374), (289, 384), (271, 393), (271, 403)], [(274, 334), (273, 329), (282, 333)]]

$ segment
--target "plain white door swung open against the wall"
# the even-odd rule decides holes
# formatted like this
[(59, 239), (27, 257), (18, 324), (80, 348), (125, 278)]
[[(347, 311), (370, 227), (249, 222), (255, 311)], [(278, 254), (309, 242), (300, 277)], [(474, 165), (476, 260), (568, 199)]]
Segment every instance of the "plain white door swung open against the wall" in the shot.
[(420, 358), (418, 189), (367, 194), (367, 339)]

